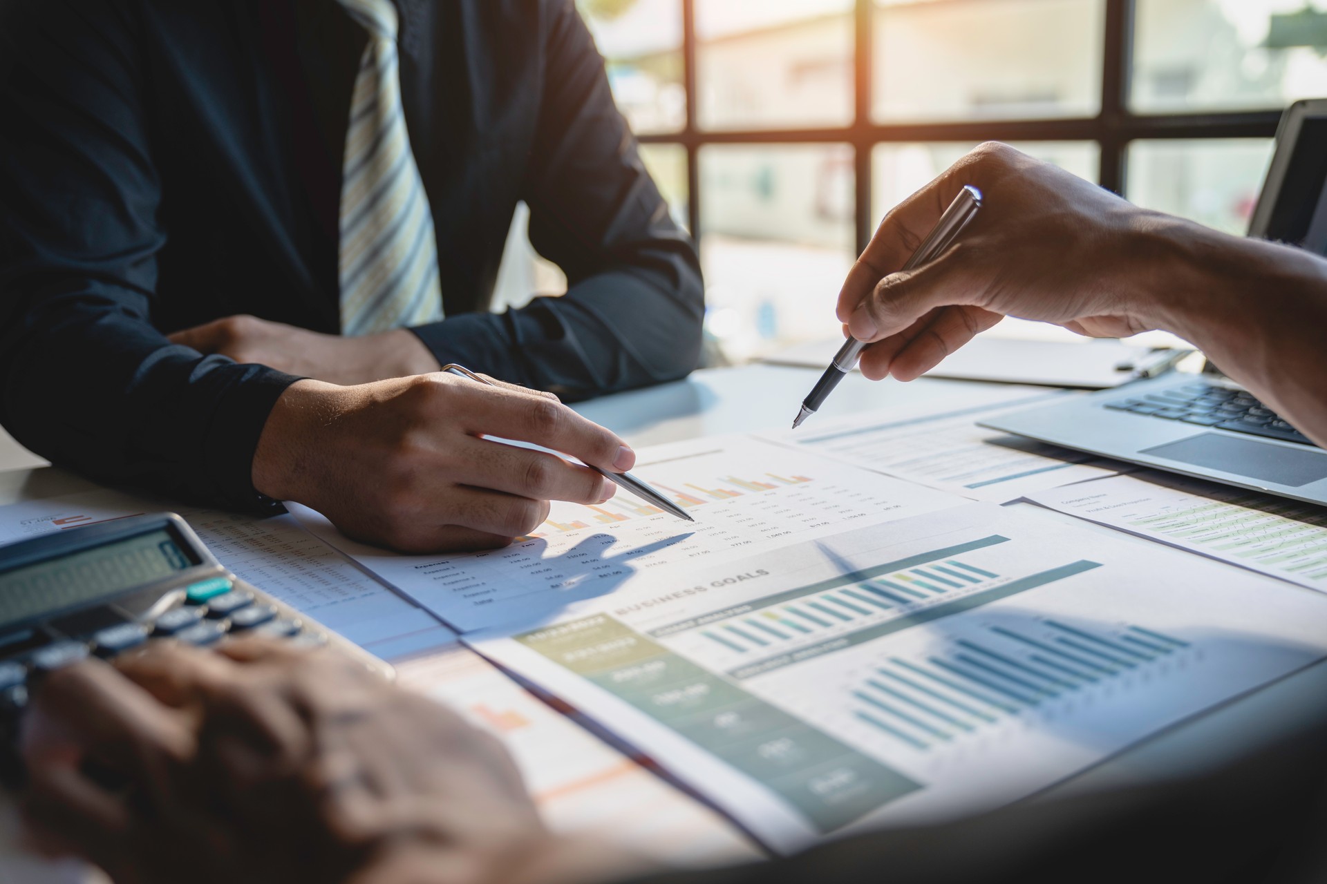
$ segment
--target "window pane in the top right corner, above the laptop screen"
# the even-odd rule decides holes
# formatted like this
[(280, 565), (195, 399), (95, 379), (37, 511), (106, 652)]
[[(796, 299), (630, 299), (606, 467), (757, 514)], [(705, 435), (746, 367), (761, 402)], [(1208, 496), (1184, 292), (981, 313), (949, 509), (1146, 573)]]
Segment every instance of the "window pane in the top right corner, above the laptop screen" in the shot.
[(1137, 0), (1133, 33), (1135, 110), (1327, 95), (1327, 0)]

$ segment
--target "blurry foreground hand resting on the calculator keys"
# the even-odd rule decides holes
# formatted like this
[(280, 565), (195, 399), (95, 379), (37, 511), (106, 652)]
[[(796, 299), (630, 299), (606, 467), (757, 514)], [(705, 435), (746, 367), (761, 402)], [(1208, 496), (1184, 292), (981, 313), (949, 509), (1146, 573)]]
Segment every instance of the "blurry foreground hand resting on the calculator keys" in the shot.
[(519, 884), (612, 854), (549, 835), (496, 740), (334, 652), (158, 644), (118, 668), (52, 675), (23, 750), (38, 843), (119, 883)]

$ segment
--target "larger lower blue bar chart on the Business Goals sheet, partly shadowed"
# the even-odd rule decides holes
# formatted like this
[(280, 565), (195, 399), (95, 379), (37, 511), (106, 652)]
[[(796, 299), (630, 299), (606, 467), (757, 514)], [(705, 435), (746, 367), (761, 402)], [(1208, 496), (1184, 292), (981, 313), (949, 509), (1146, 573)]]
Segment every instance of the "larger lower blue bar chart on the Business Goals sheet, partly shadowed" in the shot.
[(955, 635), (917, 659), (881, 660), (849, 700), (857, 720), (896, 746), (928, 751), (1186, 647), (1136, 626), (1104, 631), (1028, 620), (1018, 630)]

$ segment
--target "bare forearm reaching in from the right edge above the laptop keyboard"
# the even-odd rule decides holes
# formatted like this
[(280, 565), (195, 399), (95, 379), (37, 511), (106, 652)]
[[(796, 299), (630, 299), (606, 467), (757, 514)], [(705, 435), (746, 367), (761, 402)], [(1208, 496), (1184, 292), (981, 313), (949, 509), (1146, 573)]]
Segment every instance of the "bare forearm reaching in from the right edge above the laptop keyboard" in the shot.
[(1157, 327), (1327, 445), (1327, 261), (1292, 247), (1149, 217)]

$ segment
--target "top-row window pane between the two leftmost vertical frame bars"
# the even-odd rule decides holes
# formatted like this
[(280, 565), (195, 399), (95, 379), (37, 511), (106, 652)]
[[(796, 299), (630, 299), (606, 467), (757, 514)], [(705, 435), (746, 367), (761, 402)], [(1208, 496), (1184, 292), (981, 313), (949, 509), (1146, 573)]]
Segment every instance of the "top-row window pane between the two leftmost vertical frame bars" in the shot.
[(852, 0), (697, 0), (705, 129), (852, 122)]

